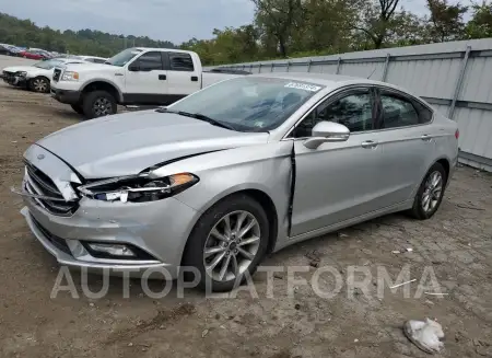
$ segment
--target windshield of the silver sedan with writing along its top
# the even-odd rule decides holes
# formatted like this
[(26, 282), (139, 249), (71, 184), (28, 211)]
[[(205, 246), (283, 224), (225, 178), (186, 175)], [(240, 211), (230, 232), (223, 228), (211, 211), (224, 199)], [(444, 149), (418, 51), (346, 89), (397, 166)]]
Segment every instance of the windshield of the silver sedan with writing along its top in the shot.
[(269, 131), (321, 89), (304, 81), (247, 76), (206, 88), (167, 108), (204, 115), (239, 131)]

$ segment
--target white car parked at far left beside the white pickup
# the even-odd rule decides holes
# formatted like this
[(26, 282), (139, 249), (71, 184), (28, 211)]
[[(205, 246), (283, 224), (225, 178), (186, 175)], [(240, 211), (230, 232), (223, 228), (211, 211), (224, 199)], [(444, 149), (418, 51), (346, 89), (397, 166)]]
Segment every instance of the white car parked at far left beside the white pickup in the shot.
[(3, 81), (35, 92), (49, 93), (49, 83), (56, 66), (83, 63), (84, 60), (55, 58), (37, 62), (33, 66), (13, 66), (3, 69)]

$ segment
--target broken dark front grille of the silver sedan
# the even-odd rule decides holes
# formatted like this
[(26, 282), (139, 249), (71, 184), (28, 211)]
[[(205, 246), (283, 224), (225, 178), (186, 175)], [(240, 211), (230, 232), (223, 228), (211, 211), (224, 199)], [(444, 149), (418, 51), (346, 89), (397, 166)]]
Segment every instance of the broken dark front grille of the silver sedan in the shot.
[(58, 187), (55, 183), (49, 178), (48, 175), (43, 173), (33, 164), (26, 162), (25, 169), (27, 173), (27, 181), (25, 183), (25, 188), (31, 194), (49, 196), (51, 198), (63, 199), (63, 201), (58, 200), (47, 200), (40, 198), (34, 198), (34, 200), (40, 205), (43, 208), (48, 210), (49, 212), (57, 216), (71, 216), (75, 212), (78, 208), (77, 201), (65, 201), (63, 196), (61, 195)]

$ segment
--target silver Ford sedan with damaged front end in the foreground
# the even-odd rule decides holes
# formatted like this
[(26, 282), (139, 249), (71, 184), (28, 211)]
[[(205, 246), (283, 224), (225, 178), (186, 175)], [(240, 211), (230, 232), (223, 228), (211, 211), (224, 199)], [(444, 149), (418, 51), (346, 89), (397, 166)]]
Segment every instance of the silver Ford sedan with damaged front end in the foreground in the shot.
[(200, 287), (230, 290), (268, 252), (389, 212), (431, 218), (458, 136), (388, 83), (254, 74), (55, 132), (25, 152), (16, 193), (60, 264), (192, 266)]

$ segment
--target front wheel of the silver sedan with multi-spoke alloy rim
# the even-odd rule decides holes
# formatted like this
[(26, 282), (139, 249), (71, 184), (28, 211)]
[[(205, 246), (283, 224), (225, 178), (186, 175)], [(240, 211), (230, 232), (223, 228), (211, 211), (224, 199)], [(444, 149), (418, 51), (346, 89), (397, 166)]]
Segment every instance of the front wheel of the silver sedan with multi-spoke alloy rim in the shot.
[[(216, 240), (211, 234), (214, 229), (220, 233), (225, 232), (223, 224), (225, 223), (224, 218), (227, 216), (230, 217), (231, 228), (235, 229), (237, 222), (235, 218), (242, 215), (246, 215), (246, 217), (243, 216), (244, 221), (243, 226), (241, 226), (243, 230), (253, 222), (251, 218), (257, 223), (244, 233), (243, 242), (241, 242), (239, 235), (233, 235), (235, 230), (232, 230), (229, 242)], [(255, 236), (259, 236), (259, 239), (249, 244), (245, 243), (246, 241), (255, 240)], [(245, 280), (246, 272), (249, 275), (256, 272), (265, 257), (269, 239), (268, 217), (261, 205), (247, 195), (233, 195), (219, 201), (201, 216), (186, 244), (183, 265), (198, 269), (200, 273), (198, 287), (200, 289), (214, 292), (231, 291)], [(229, 246), (224, 249), (221, 245)], [(211, 254), (206, 258), (206, 249), (218, 249), (219, 246), (221, 246), (221, 250), (223, 249), (221, 252)], [(245, 251), (253, 256), (247, 258), (242, 253)], [(206, 264), (209, 267), (212, 266), (213, 262), (218, 261), (222, 253), (224, 253), (223, 258), (218, 262), (211, 274), (209, 274), (210, 272), (206, 270)], [(221, 279), (224, 265), (227, 273)], [(235, 267), (239, 267), (236, 275), (234, 274)], [(194, 278), (194, 275), (185, 276), (185, 279)]]

